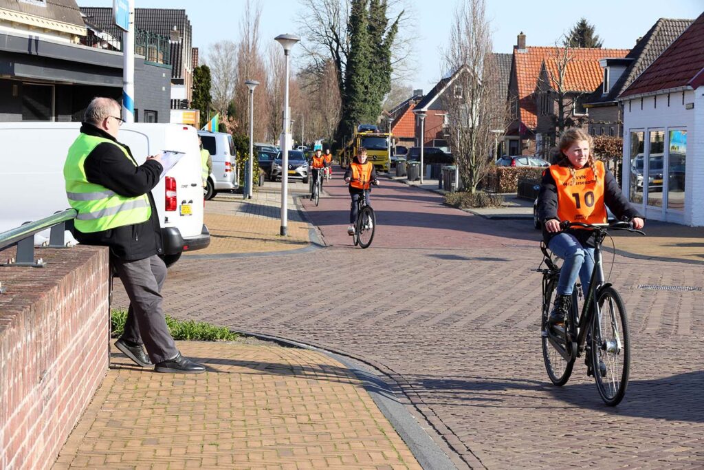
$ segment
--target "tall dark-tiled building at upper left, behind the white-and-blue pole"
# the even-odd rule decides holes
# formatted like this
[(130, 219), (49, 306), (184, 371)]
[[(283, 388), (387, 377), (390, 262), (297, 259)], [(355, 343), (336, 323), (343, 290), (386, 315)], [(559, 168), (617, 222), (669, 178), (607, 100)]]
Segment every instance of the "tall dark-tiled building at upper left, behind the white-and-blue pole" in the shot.
[[(112, 8), (86, 6), (87, 20), (111, 35), (120, 35)], [(134, 8), (137, 30), (167, 37), (171, 63), (171, 109), (187, 109), (193, 96), (193, 28), (185, 10), (175, 8)]]

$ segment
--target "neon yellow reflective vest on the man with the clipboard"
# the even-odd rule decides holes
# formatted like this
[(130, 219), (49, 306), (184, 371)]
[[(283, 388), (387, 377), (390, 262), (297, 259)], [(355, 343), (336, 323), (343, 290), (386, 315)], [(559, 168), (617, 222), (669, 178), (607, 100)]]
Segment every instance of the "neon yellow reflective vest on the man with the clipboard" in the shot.
[(137, 166), (130, 154), (127, 154), (127, 150), (113, 140), (83, 133), (77, 137), (68, 149), (63, 177), (68, 203), (78, 211), (74, 226), (83, 233), (134, 225), (146, 222), (151, 217), (151, 204), (146, 194), (125, 197), (102, 185), (89, 183), (84, 170), (85, 160), (95, 147), (103, 143), (118, 147), (125, 154), (125, 158)]

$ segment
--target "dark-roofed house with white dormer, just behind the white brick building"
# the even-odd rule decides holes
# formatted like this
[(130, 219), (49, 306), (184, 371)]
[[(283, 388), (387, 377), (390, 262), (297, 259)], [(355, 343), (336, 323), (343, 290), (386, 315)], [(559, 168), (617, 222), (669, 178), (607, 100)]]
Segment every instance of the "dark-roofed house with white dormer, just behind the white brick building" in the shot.
[(624, 58), (599, 62), (603, 78), (586, 100), (591, 135), (623, 136), (623, 108), (616, 98), (627, 89), (693, 20), (660, 18)]

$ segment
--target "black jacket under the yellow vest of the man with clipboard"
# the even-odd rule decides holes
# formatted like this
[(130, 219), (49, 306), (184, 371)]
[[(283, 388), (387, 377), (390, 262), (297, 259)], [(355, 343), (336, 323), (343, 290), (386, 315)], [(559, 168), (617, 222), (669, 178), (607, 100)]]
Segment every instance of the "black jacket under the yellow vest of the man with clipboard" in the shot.
[[(120, 144), (115, 137), (96, 128), (89, 123), (83, 123), (81, 132), (87, 135), (113, 140), (127, 150), (134, 161), (130, 148)], [(134, 163), (137, 163), (135, 161)], [(148, 221), (102, 232), (82, 233), (73, 230), (76, 240), (84, 245), (101, 245), (110, 247), (113, 256), (125, 261), (144, 259), (153, 254), (162, 254), (161, 227), (156, 204), (151, 196), (151, 189), (159, 182), (163, 167), (161, 163), (147, 160), (141, 166), (134, 166), (125, 159), (125, 154), (115, 145), (103, 143), (91, 151), (84, 161), (83, 169), (90, 183), (104, 186), (121, 196), (137, 197), (146, 194), (151, 204), (151, 218)]]

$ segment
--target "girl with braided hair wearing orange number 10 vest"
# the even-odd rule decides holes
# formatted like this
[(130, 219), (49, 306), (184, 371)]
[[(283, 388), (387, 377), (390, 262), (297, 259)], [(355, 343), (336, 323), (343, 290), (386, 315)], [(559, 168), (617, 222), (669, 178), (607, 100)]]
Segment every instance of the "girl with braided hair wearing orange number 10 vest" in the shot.
[(577, 276), (584, 292), (589, 289), (594, 268), (591, 230), (562, 230), (560, 221), (606, 223), (606, 206), (620, 221), (631, 221), (634, 228), (644, 221), (621, 193), (614, 175), (591, 154), (591, 135), (579, 128), (565, 130), (560, 137), (557, 163), (543, 172), (538, 194), (538, 216), (543, 222), (543, 240), (551, 252), (562, 258), (555, 304), (550, 324), (565, 321)]

